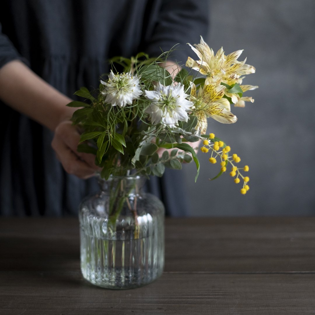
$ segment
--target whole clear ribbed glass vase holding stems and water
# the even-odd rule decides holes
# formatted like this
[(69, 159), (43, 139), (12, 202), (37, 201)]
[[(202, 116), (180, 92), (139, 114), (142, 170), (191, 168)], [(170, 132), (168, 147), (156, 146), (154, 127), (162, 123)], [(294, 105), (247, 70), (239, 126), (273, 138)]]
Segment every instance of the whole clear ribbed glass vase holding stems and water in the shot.
[(164, 267), (163, 203), (142, 191), (140, 176), (99, 182), (101, 191), (79, 209), (83, 277), (110, 289), (152, 282)]

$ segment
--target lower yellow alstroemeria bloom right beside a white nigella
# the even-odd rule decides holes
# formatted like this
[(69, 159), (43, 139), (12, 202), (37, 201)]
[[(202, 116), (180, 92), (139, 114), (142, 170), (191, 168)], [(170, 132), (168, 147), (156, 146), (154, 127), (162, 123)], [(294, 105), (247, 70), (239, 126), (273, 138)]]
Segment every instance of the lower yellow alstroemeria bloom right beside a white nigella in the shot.
[(220, 123), (235, 123), (237, 117), (231, 113), (230, 102), (224, 98), (223, 85), (204, 85), (199, 88), (198, 95), (196, 85), (191, 83), (190, 99), (194, 102), (193, 114), (198, 118), (196, 129), (202, 134), (207, 131), (207, 117), (211, 117)]

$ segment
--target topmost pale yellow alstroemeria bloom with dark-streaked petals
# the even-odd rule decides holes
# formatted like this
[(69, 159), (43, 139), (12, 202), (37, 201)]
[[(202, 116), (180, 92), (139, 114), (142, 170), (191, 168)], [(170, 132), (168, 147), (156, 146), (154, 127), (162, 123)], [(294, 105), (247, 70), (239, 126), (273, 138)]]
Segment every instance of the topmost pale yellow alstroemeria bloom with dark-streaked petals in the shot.
[(188, 57), (186, 66), (191, 67), (194, 70), (199, 71), (201, 74), (207, 76), (205, 84), (219, 83), (221, 81), (227, 81), (231, 78), (236, 78), (237, 75), (254, 73), (255, 68), (253, 66), (245, 64), (244, 61), (238, 61), (238, 57), (242, 54), (243, 50), (234, 51), (231, 54), (225, 55), (223, 48), (218, 50), (214, 54), (213, 50), (204, 42), (201, 37), (199, 44), (188, 45), (197, 54), (199, 60), (193, 60)]

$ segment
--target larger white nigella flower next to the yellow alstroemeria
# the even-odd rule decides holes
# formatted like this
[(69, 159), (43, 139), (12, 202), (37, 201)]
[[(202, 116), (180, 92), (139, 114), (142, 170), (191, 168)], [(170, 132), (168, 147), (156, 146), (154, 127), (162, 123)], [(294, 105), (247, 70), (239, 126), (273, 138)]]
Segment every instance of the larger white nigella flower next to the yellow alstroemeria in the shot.
[(178, 83), (175, 86), (164, 86), (157, 83), (154, 91), (145, 91), (146, 98), (151, 101), (146, 108), (151, 122), (156, 125), (162, 123), (169, 128), (175, 128), (178, 121), (188, 120), (188, 114), (193, 103), (186, 100), (184, 86)]

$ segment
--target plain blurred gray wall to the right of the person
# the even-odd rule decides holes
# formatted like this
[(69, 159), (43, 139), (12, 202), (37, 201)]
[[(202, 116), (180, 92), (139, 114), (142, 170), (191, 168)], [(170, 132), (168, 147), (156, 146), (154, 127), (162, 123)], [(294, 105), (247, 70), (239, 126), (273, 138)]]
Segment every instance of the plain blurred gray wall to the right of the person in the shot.
[(315, 215), (315, 1), (211, 0), (209, 14), (209, 46), (244, 49), (239, 60), (256, 68), (243, 81), (259, 86), (245, 94), (255, 102), (231, 108), (235, 124), (208, 124), (249, 165), (250, 190), (228, 173), (210, 182), (220, 165), (200, 152), (196, 184), (195, 165), (184, 167), (187, 215)]

